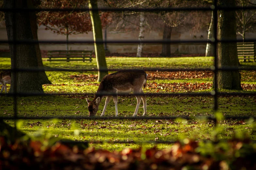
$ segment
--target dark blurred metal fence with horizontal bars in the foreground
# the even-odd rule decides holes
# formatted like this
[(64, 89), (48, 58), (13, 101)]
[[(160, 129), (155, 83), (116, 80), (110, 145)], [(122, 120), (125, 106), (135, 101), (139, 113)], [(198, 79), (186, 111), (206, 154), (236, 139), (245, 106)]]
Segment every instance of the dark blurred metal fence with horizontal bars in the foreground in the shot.
[[(236, 42), (251, 42), (256, 41), (256, 39), (249, 39), (249, 40), (236, 40), (236, 39), (223, 39), (219, 40), (217, 38), (217, 18), (218, 18), (218, 10), (255, 10), (256, 7), (219, 7), (217, 6), (217, 1), (214, 1), (214, 4), (211, 7), (167, 7), (167, 8), (97, 8), (97, 9), (89, 9), (89, 8), (19, 8), (14, 7), (13, 8), (2, 8), (0, 11), (2, 12), (11, 12), (11, 13), (18, 13), (18, 12), (31, 12), (31, 11), (89, 11), (89, 10), (96, 10), (96, 11), (112, 11), (112, 12), (122, 12), (122, 11), (136, 11), (136, 12), (172, 12), (172, 11), (213, 11), (214, 13), (214, 38), (211, 40), (96, 40), (96, 41), (90, 41), (90, 40), (79, 40), (79, 41), (68, 41), (69, 44), (80, 44), (80, 43), (130, 43), (130, 44), (139, 44), (139, 43), (154, 43), (154, 44), (180, 44), (180, 43), (211, 43), (214, 45), (214, 66), (211, 68), (144, 68), (144, 71), (165, 71), (165, 72), (174, 72), (174, 71), (213, 71), (214, 73), (214, 89), (212, 92), (186, 92), (186, 93), (133, 93), (133, 94), (118, 94), (120, 96), (133, 96), (133, 95), (146, 95), (146, 96), (213, 96), (214, 98), (214, 107), (213, 110), (218, 110), (218, 97), (219, 96), (233, 96), (233, 95), (239, 95), (239, 96), (256, 96), (256, 92), (219, 92), (217, 89), (217, 73), (219, 71), (238, 71), (238, 70), (256, 70), (255, 67), (251, 68), (238, 68), (238, 67), (218, 67), (218, 60), (216, 58), (217, 54), (217, 44), (220, 42), (225, 43), (236, 43)], [(16, 23), (17, 18), (15, 15), (13, 15), (13, 23)], [(15, 30), (17, 25), (13, 25), (13, 30)], [(27, 39), (16, 39), (15, 37), (15, 31), (13, 32), (14, 39), (13, 40), (0, 40), (0, 44), (12, 44), (13, 45), (13, 63), (12, 63), (12, 69), (0, 69), (0, 71), (11, 71), (13, 76), (13, 86), (14, 86), (14, 92), (8, 93), (8, 96), (13, 96), (14, 102), (13, 102), (13, 111), (14, 116), (13, 117), (0, 117), (0, 119), (4, 120), (29, 120), (29, 119), (85, 119), (85, 120), (170, 120), (170, 119), (177, 119), (182, 118), (186, 120), (191, 119), (205, 119), (205, 120), (213, 120), (216, 123), (216, 118), (213, 117), (187, 117), (187, 116), (167, 116), (167, 117), (153, 117), (153, 116), (147, 116), (147, 117), (88, 117), (88, 116), (54, 116), (54, 117), (42, 117), (42, 116), (33, 116), (33, 117), (22, 117), (17, 115), (17, 96), (47, 96), (47, 95), (94, 95), (94, 93), (17, 93), (17, 87), (16, 87), (16, 73), (17, 72), (42, 72), (42, 71), (62, 71), (62, 72), (88, 72), (88, 71), (120, 71), (120, 70), (127, 70), (132, 71), (134, 69), (60, 69), (60, 68), (45, 68), (45, 69), (39, 69), (39, 68), (28, 68), (28, 69), (21, 69), (17, 68), (16, 63), (16, 49), (17, 45), (19, 44), (65, 44), (67, 41), (38, 41), (38, 40), (27, 40)], [(116, 95), (116, 93), (110, 94), (110, 93), (100, 93), (100, 95)], [(225, 117), (225, 119), (249, 119), (249, 118), (256, 118), (256, 117), (245, 117), (245, 116), (228, 116)], [(106, 141), (87, 141), (89, 143), (104, 143)], [(174, 141), (142, 141), (142, 142), (133, 142), (133, 141), (108, 141), (108, 143), (164, 143), (164, 144), (171, 144), (174, 143)]]

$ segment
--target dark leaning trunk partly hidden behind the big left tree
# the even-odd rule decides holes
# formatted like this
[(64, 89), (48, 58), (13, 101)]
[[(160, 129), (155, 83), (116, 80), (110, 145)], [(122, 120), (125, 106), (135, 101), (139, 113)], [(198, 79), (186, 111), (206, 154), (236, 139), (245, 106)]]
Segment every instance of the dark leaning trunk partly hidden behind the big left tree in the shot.
[[(28, 5), (28, 7), (31, 7), (31, 8), (34, 7), (31, 0), (27, 0), (27, 5)], [(37, 26), (36, 13), (34, 11), (30, 12), (29, 17), (30, 17), (32, 35), (34, 37), (34, 40), (38, 41), (38, 36), (37, 36), (38, 26)], [(44, 67), (43, 67), (43, 61), (42, 61), (42, 55), (41, 55), (41, 50), (40, 50), (40, 47), (39, 47), (39, 43), (35, 43), (35, 47), (36, 47), (38, 68), (43, 69)], [(39, 76), (40, 76), (39, 81), (40, 81), (41, 84), (52, 84), (50, 82), (50, 80), (48, 79), (48, 77), (46, 76), (45, 71), (39, 72)]]

